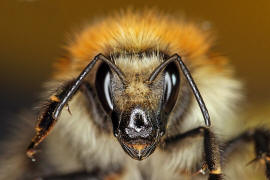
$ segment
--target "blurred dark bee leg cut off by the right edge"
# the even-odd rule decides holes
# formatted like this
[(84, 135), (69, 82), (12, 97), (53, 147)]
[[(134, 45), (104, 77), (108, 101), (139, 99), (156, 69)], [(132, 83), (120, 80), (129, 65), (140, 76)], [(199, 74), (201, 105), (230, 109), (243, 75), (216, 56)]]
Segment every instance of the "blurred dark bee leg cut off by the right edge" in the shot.
[(265, 174), (270, 180), (270, 131), (266, 129), (248, 130), (233, 138), (225, 144), (223, 156), (228, 156), (234, 149), (242, 143), (254, 143), (256, 158), (250, 163), (263, 160), (265, 164)]

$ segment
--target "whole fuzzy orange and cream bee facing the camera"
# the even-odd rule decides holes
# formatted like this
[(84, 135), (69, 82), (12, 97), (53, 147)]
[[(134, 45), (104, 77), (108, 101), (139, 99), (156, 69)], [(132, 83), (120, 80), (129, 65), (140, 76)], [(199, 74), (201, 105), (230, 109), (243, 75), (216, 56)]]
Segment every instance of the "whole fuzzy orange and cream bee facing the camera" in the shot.
[(232, 133), (242, 83), (213, 42), (154, 10), (85, 27), (47, 84), (30, 145), (33, 123), (7, 146), (0, 179), (250, 179), (231, 162), (247, 144), (270, 179), (270, 131)]

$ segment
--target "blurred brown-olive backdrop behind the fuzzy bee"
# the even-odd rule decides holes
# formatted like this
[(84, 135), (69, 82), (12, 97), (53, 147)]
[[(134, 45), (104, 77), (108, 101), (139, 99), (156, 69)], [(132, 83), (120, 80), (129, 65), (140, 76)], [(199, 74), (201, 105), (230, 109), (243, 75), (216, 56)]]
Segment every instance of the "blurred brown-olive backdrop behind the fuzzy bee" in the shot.
[(270, 0), (0, 0), (0, 135), (22, 109), (37, 101), (66, 35), (126, 7), (156, 7), (188, 19), (207, 20), (216, 50), (230, 57), (246, 84), (248, 104), (270, 100)]

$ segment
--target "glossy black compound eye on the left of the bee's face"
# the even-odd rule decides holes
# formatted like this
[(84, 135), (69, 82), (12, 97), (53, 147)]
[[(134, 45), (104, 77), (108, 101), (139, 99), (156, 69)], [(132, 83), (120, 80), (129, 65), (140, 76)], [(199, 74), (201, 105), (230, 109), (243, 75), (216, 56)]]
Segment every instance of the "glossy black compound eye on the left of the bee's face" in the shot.
[(104, 110), (110, 114), (113, 110), (111, 95), (111, 71), (107, 64), (99, 66), (96, 74), (96, 92)]

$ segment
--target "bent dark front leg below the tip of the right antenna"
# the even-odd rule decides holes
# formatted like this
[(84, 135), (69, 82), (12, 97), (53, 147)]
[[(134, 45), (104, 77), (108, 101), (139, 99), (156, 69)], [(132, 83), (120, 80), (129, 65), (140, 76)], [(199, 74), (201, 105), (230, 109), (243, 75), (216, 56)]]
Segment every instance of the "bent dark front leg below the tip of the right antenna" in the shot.
[(198, 127), (186, 133), (167, 138), (165, 144), (177, 143), (185, 138), (203, 136), (205, 161), (209, 170), (209, 180), (222, 180), (221, 158), (219, 144), (216, 141), (214, 133), (207, 127)]

